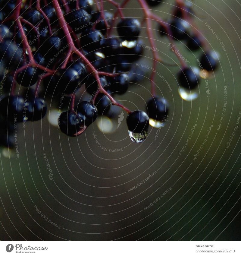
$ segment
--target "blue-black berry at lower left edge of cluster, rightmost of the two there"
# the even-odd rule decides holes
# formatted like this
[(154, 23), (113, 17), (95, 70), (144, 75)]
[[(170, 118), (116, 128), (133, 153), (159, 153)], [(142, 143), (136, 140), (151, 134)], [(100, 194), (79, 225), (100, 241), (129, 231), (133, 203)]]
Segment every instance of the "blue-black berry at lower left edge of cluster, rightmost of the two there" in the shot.
[(33, 100), (28, 102), (27, 106), (27, 117), (30, 121), (41, 120), (47, 112), (47, 105), (45, 101), (41, 98), (33, 98)]

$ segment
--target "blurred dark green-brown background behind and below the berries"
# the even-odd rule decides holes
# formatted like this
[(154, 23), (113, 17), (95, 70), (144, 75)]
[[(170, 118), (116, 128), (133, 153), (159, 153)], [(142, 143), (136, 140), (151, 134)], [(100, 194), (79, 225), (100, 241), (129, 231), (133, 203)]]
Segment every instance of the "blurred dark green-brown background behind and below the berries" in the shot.
[[(240, 1), (192, 3), (196, 28), (220, 61), (207, 87), (200, 83), (198, 99), (180, 98), (180, 67), (158, 64), (171, 87), (156, 77), (169, 118), (158, 134), (150, 127), (141, 144), (128, 136), (126, 113), (117, 129), (121, 109), (114, 119), (99, 118), (81, 136), (68, 138), (49, 124), (57, 116), (49, 99), (50, 117), (18, 126), (19, 160), (16, 152), (1, 149), (1, 240), (240, 240)], [(166, 0), (154, 12), (171, 17), (173, 4)], [(136, 6), (130, 1), (126, 16), (142, 17)], [(178, 63), (154, 22), (153, 33), (161, 58)], [(141, 36), (148, 45), (144, 29)], [(184, 43), (176, 45), (190, 65), (198, 65), (201, 49), (192, 53)], [(151, 66), (151, 57), (146, 50), (139, 62)], [(117, 100), (145, 110), (149, 79), (129, 89)], [(112, 132), (101, 131), (105, 126)]]

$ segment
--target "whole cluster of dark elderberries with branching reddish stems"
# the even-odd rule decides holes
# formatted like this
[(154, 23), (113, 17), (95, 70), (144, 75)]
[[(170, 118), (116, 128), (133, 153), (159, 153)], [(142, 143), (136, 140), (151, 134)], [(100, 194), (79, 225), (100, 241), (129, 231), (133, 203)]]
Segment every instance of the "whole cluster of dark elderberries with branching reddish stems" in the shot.
[[(162, 1), (136, 0), (144, 14), (142, 21), (124, 16), (123, 8), (128, 0), (121, 4), (114, 0), (108, 2), (115, 6), (115, 13), (105, 11), (103, 1), (94, 0), (0, 2), (0, 76), (5, 83), (1, 89), (5, 96), (0, 98), (1, 136), (7, 136), (4, 135), (1, 142), (4, 146), (13, 146), (12, 124), (37, 121), (45, 116), (47, 107), (44, 98), (39, 96), (40, 86), (45, 95), (55, 97), (64, 93), (71, 96), (69, 110), (62, 112), (58, 120), (61, 131), (68, 136), (80, 135), (97, 115), (108, 115), (111, 105), (116, 105), (128, 113), (131, 139), (144, 141), (149, 123), (158, 127), (168, 113), (167, 101), (155, 94), (155, 73), (150, 77), (153, 97), (146, 104), (147, 114), (140, 110), (130, 111), (113, 98), (116, 94), (124, 94), (131, 82), (138, 82), (142, 77), (137, 74), (143, 71), (132, 65), (143, 55), (143, 47), (139, 47), (142, 22), (146, 22), (152, 49), (156, 47), (151, 20), (155, 20), (161, 36), (167, 36), (170, 42), (186, 40), (191, 50), (205, 49), (200, 58), (204, 69), (212, 71), (217, 67), (215, 53), (208, 51), (202, 37), (191, 30), (193, 10), (184, 0), (176, 1), (174, 18), (170, 22), (163, 21), (150, 10)], [(116, 19), (118, 16), (120, 20)], [(154, 69), (158, 62), (162, 60), (153, 51)], [(199, 72), (188, 67), (182, 59), (180, 64), (180, 88), (191, 94), (199, 84)], [(7, 76), (6, 68), (10, 69)], [(17, 84), (27, 87), (27, 99), (15, 94)], [(83, 86), (91, 95), (90, 100), (76, 105), (75, 94)]]

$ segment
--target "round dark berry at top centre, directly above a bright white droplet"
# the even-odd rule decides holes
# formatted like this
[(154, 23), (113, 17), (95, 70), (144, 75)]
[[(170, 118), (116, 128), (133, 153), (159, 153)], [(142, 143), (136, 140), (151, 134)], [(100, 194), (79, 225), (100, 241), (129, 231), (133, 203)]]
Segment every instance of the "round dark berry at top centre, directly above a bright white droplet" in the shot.
[(134, 41), (137, 40), (141, 24), (137, 19), (124, 18), (117, 24), (117, 32), (121, 40)]

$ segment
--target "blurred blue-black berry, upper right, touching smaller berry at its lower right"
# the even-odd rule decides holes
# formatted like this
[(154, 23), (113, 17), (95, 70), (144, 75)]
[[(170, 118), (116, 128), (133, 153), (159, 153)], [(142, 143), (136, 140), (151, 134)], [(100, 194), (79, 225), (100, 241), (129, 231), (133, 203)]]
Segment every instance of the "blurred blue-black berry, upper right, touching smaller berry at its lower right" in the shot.
[(171, 33), (175, 40), (187, 39), (189, 37), (187, 28), (187, 22), (180, 19), (174, 19), (170, 24)]

